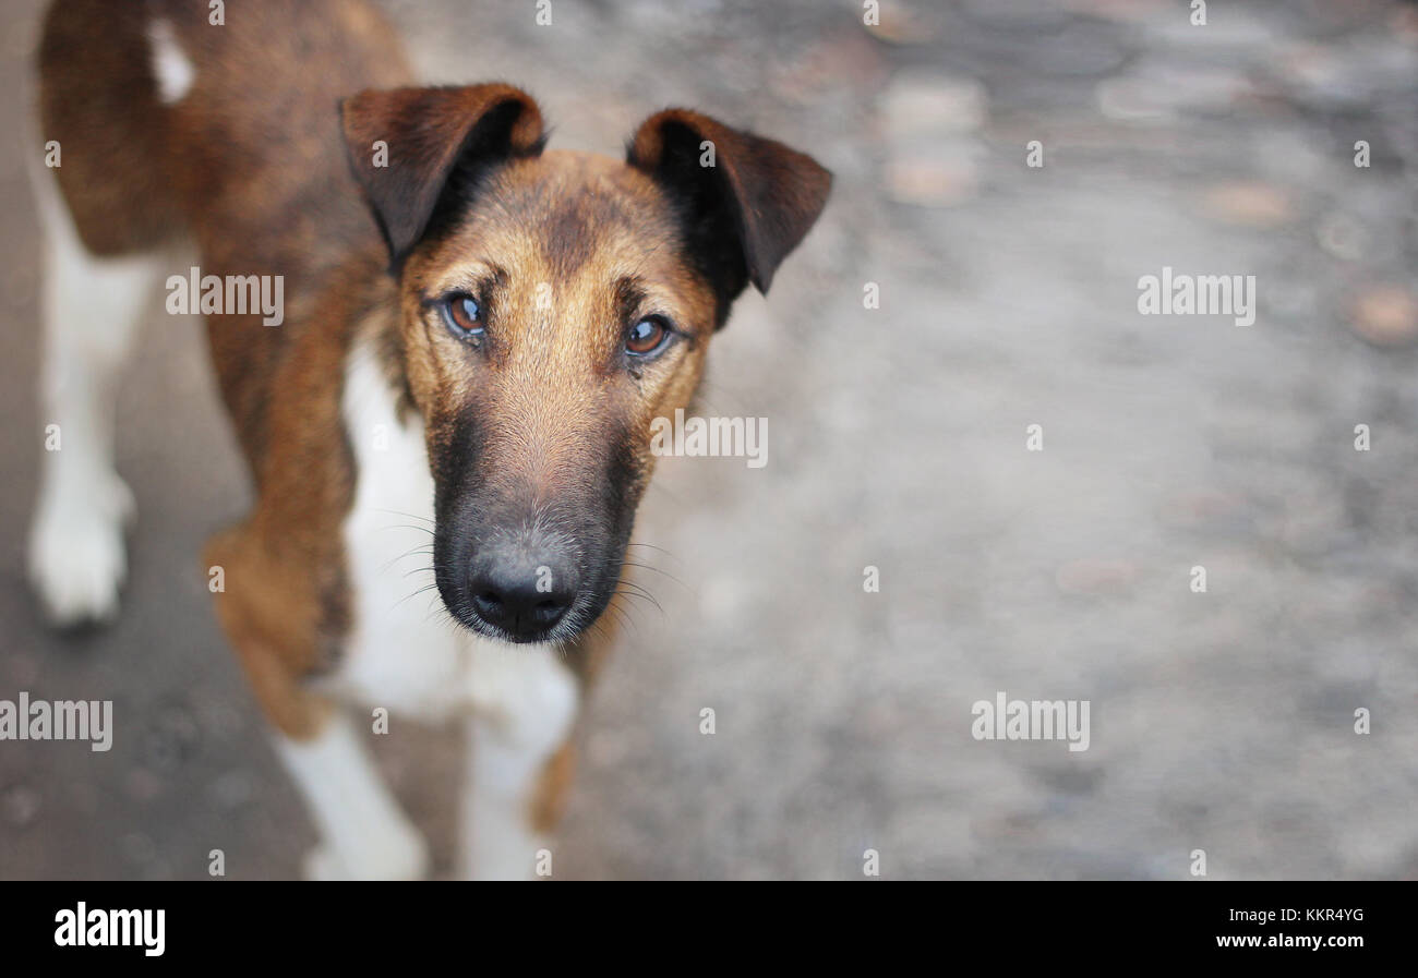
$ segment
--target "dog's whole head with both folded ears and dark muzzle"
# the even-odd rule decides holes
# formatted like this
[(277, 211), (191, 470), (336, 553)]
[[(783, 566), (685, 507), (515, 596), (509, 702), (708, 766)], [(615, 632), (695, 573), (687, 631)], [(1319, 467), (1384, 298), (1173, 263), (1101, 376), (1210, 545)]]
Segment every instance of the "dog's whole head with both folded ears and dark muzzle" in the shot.
[(508, 85), (367, 91), (342, 106), (400, 282), (400, 356), (434, 475), (448, 611), (515, 642), (605, 609), (654, 463), (733, 299), (769, 288), (831, 176), (695, 112), (625, 162), (542, 152)]

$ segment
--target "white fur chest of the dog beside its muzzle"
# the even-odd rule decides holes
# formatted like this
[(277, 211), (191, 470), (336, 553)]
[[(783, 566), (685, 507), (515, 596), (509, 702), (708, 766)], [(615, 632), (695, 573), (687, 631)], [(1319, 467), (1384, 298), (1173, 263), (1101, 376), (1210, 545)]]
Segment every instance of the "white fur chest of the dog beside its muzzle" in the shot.
[(394, 404), (373, 350), (356, 346), (343, 398), (357, 465), (343, 526), (353, 622), (333, 682), (369, 706), (437, 720), (465, 704), (478, 639), (454, 626), (434, 587), (423, 427), (400, 422)]

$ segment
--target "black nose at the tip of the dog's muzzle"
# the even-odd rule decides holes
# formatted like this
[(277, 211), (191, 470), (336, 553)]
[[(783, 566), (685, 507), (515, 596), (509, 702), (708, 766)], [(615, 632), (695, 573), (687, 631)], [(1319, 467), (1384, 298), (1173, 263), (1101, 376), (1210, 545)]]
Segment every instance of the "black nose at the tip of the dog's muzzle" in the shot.
[(577, 584), (576, 564), (550, 550), (481, 553), (468, 567), (478, 617), (519, 642), (543, 638), (576, 601)]

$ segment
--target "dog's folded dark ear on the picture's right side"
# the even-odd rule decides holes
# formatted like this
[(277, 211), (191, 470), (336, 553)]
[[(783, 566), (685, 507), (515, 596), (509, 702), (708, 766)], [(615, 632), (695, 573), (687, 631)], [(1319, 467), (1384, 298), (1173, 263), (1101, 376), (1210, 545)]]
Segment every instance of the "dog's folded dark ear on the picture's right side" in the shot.
[(675, 201), (691, 249), (729, 300), (746, 278), (769, 291), (832, 186), (832, 174), (811, 156), (688, 109), (645, 119), (627, 162)]

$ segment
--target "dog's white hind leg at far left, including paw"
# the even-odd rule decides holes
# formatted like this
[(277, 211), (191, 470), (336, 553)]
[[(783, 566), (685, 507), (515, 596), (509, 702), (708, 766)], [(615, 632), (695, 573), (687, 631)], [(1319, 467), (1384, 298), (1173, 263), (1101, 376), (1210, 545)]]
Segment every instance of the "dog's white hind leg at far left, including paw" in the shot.
[(149, 254), (91, 254), (52, 174), (31, 173), (44, 238), (40, 422), (47, 451), (28, 570), (50, 618), (75, 625), (118, 611), (133, 500), (113, 471), (115, 381), (164, 264)]

